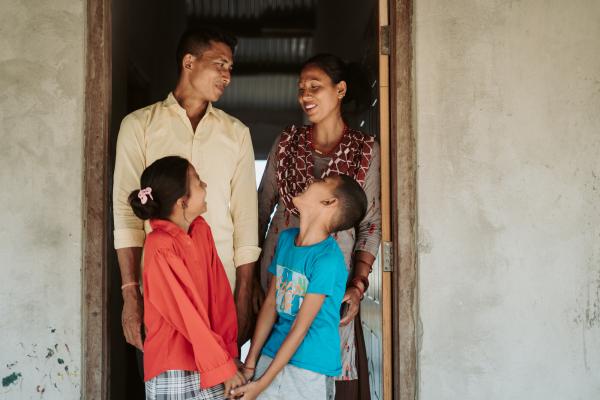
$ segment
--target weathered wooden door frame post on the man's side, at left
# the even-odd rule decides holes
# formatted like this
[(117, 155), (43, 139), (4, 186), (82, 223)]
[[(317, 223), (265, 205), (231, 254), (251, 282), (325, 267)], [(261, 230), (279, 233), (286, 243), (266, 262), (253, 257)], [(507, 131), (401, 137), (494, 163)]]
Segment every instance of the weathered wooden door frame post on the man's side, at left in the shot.
[(111, 0), (88, 0), (84, 115), (82, 270), (83, 399), (108, 399), (108, 140), (111, 111)]

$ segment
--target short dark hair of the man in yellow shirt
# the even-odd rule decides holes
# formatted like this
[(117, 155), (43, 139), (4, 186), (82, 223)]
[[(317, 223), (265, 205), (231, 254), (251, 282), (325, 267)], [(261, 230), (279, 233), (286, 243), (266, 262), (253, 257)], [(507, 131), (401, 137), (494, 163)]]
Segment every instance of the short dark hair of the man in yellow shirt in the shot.
[(235, 51), (237, 39), (232, 34), (211, 26), (188, 29), (181, 35), (177, 45), (176, 59), (177, 71), (181, 71), (181, 63), (186, 54), (193, 54), (197, 57), (210, 46), (210, 42), (225, 43)]

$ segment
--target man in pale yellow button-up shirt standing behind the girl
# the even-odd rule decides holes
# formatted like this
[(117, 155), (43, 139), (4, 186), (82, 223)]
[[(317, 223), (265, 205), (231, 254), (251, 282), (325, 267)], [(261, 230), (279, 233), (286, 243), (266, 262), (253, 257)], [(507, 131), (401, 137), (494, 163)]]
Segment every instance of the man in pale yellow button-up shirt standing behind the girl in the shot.
[(231, 81), (235, 45), (234, 37), (213, 29), (184, 33), (173, 92), (121, 123), (113, 187), (115, 249), (123, 284), (123, 332), (139, 349), (143, 301), (137, 282), (148, 226), (134, 216), (127, 196), (139, 187), (144, 168), (167, 155), (187, 158), (207, 184), (205, 219), (234, 289), (239, 344), (250, 335), (252, 303), (260, 298), (254, 283), (260, 254), (254, 152), (248, 128), (212, 106)]

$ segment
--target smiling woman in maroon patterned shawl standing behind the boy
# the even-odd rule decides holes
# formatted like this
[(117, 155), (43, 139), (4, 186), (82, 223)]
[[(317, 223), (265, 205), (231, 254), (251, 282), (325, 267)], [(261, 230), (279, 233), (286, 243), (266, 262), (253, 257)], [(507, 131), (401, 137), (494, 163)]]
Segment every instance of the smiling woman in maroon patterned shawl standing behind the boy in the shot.
[[(361, 88), (366, 88), (365, 93)], [(348, 306), (340, 325), (342, 375), (336, 378), (337, 399), (370, 398), (358, 311), (381, 240), (379, 145), (372, 136), (350, 129), (342, 117), (342, 104), (361, 103), (366, 93), (366, 79), (354, 65), (330, 54), (306, 61), (300, 72), (298, 101), (311, 125), (292, 125), (283, 131), (269, 153), (258, 191), (264, 287), (279, 232), (299, 224), (292, 198), (311, 180), (345, 174), (354, 178), (367, 194), (369, 207), (363, 220), (356, 228), (335, 235), (349, 271), (344, 296)]]

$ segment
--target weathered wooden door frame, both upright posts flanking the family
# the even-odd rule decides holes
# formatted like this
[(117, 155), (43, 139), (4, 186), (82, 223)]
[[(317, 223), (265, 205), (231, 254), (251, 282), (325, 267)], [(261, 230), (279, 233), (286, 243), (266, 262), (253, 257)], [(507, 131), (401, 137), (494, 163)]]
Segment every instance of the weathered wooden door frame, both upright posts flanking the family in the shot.
[[(108, 140), (111, 0), (87, 0), (82, 269), (82, 398), (108, 399)], [(412, 0), (389, 0), (393, 399), (417, 396), (416, 144), (412, 128)]]

